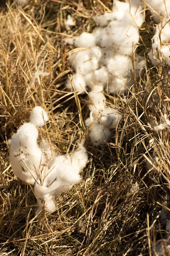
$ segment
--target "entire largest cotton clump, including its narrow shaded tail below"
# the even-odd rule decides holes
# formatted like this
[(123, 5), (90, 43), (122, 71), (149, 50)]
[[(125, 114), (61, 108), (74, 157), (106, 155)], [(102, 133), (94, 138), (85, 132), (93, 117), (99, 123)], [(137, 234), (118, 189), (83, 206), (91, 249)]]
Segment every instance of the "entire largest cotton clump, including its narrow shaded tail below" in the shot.
[[(108, 93), (124, 91), (127, 81), (129, 85), (134, 84), (133, 77), (139, 78), (144, 67), (144, 60), (138, 55), (132, 63), (144, 15), (139, 0), (128, 3), (115, 0), (112, 12), (93, 18), (99, 26), (92, 33), (83, 32), (66, 42), (77, 47), (69, 56), (77, 76), (76, 90), (91, 90), (88, 93), (90, 116), (85, 124), (90, 128), (92, 144), (98, 146), (111, 137), (111, 130), (121, 118), (115, 108), (107, 107), (103, 91), (106, 88)], [(68, 84), (67, 81), (66, 87)]]

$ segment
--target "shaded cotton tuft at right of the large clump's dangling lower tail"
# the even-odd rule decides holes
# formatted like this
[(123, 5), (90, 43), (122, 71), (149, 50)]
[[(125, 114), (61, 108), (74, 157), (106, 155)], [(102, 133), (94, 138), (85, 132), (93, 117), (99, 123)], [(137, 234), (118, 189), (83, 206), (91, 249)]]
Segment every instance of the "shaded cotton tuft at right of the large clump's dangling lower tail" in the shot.
[(120, 119), (121, 119), (121, 115), (119, 114), (119, 112), (116, 109), (106, 107), (102, 111), (102, 116), (100, 116), (99, 122), (101, 122), (101, 124), (104, 127), (113, 129), (118, 124)]

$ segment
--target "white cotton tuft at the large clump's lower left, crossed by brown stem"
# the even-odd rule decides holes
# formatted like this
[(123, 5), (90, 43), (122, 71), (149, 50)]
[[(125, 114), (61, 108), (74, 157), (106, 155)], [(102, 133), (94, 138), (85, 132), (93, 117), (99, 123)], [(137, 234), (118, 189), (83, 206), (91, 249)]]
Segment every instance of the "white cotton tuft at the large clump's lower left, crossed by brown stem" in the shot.
[[(73, 75), (72, 82), (73, 82), (73, 86), (75, 86), (75, 89), (77, 92), (81, 92), (81, 94), (85, 93), (86, 84), (85, 84), (85, 80), (81, 74), (78, 73), (76, 75)], [(73, 90), (69, 79), (66, 82), (66, 87), (70, 90)]]

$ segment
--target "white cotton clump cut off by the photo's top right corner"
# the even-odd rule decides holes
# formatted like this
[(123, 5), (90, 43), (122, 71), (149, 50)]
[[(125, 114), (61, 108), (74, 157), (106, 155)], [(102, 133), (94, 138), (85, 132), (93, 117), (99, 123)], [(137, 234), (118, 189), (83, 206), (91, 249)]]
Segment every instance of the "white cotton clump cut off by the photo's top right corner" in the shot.
[(162, 18), (170, 16), (170, 1), (169, 0), (146, 0), (147, 7), (153, 16), (153, 19), (159, 23)]

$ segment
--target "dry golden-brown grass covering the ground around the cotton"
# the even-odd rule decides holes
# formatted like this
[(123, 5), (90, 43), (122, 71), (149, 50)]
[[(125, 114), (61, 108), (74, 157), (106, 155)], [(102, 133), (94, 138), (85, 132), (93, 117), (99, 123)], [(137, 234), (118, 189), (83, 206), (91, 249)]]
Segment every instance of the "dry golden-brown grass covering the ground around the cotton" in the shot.
[[(91, 32), (92, 16), (111, 9), (110, 0), (29, 0), (0, 5), (0, 256), (137, 256), (151, 255), (162, 235), (161, 204), (170, 188), (170, 129), (156, 132), (148, 123), (163, 122), (170, 112), (169, 67), (153, 67), (153, 21), (146, 11), (137, 52), (145, 56), (144, 77), (126, 95), (111, 96), (123, 118), (111, 141), (94, 148), (83, 124), (87, 96), (65, 89), (72, 69), (67, 36)], [(76, 25), (66, 30), (64, 20)], [(35, 72), (49, 76), (35, 79)], [(81, 107), (79, 107), (78, 103)], [(50, 121), (41, 136), (59, 154), (71, 152), (85, 138), (89, 161), (82, 182), (57, 199), (57, 211), (36, 216), (31, 185), (18, 180), (8, 161), (8, 139), (32, 108), (48, 110)], [(85, 135), (85, 136), (84, 136)], [(159, 161), (147, 170), (146, 158)]]

